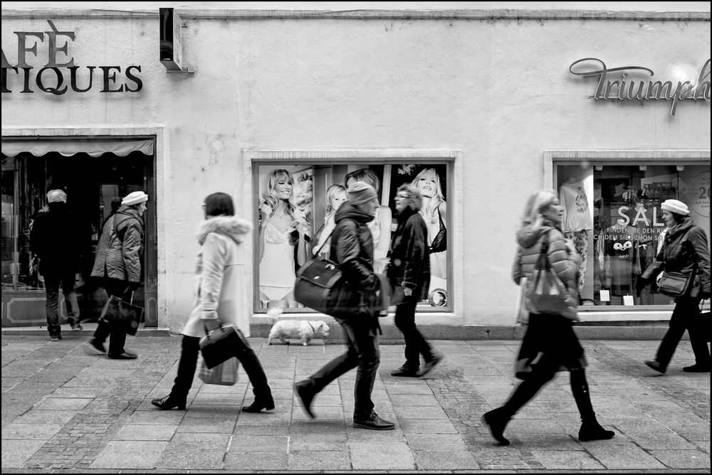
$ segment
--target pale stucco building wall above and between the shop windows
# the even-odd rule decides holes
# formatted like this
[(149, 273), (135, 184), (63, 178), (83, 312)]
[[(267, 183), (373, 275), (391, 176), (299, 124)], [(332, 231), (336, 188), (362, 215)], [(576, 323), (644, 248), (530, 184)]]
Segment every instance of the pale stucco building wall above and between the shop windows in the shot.
[[(670, 117), (666, 101), (592, 100), (596, 81), (568, 73), (573, 61), (595, 57), (651, 68), (662, 80), (678, 80), (674, 68), (684, 67), (694, 80), (709, 58), (709, 21), (187, 22), (194, 75), (165, 73), (157, 17), (61, 18), (56, 26), (76, 33), (76, 65), (141, 65), (142, 92), (2, 95), (5, 128), (164, 124), (159, 252), (172, 329), (192, 305), (201, 199), (221, 190), (241, 202), (251, 193), (241, 151), (462, 151), (464, 173), (454, 177), (462, 218), (449, 225), (468, 236), (467, 292), (456, 314), (496, 325), (512, 321), (513, 231), (526, 197), (543, 186), (545, 149), (709, 149), (709, 102), (686, 101)], [(48, 29), (43, 19), (4, 18), (9, 62), (13, 31)], [(39, 68), (45, 54), (29, 62)]]

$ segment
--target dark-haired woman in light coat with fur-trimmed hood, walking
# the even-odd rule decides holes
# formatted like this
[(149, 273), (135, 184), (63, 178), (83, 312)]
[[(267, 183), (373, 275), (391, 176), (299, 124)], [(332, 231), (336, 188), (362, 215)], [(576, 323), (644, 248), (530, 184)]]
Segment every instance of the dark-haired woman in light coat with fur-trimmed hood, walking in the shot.
[(246, 312), (244, 295), (244, 249), (242, 242), (252, 229), (248, 220), (235, 217), (231, 196), (212, 193), (203, 205), (205, 221), (201, 224), (198, 242), (197, 299), (186, 325), (183, 328), (183, 343), (178, 374), (171, 393), (152, 400), (160, 409), (178, 407), (185, 410), (187, 397), (200, 351), (200, 338), (206, 331), (223, 325), (234, 325), (241, 341), (235, 355), (250, 378), (255, 401), (242, 408), (245, 412), (260, 412), (274, 409), (272, 391), (267, 377), (250, 348), (246, 336), (250, 336), (250, 321)]

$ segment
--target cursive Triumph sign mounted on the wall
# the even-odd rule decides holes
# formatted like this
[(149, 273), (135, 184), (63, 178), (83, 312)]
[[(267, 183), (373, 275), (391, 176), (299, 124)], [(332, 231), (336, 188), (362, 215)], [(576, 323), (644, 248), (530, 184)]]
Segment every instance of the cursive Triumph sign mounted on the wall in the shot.
[[(592, 70), (591, 70), (592, 68)], [(583, 58), (569, 66), (570, 73), (577, 76), (598, 76), (598, 87), (593, 96), (602, 100), (671, 100), (670, 115), (674, 116), (681, 100), (710, 100), (710, 60), (702, 66), (696, 82), (651, 81), (629, 79), (632, 71), (643, 71), (653, 76), (653, 70), (642, 66), (607, 68), (606, 63), (597, 58)], [(611, 73), (625, 71), (619, 79), (612, 79)]]

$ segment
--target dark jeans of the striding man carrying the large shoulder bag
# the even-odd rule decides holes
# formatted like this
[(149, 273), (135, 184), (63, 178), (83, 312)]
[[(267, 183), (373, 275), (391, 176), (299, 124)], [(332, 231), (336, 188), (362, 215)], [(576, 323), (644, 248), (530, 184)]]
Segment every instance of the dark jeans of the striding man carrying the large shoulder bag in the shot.
[(339, 319), (339, 324), (346, 339), (346, 353), (326, 363), (308, 378), (310, 390), (316, 394), (340, 375), (358, 367), (354, 388), (354, 413), (370, 414), (373, 410), (373, 383), (381, 361), (377, 327), (368, 314), (358, 314), (346, 320)]

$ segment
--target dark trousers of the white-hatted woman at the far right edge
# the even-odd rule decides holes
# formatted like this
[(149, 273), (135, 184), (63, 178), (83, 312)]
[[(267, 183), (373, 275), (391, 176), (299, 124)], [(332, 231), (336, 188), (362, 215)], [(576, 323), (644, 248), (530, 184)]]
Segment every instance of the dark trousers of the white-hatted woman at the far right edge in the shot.
[(675, 309), (670, 317), (670, 327), (660, 343), (655, 357), (663, 369), (670, 364), (678, 343), (687, 330), (690, 333), (692, 351), (695, 353), (695, 362), (699, 365), (710, 365), (710, 351), (707, 347), (706, 336), (701, 333), (699, 298), (680, 297), (677, 299)]

